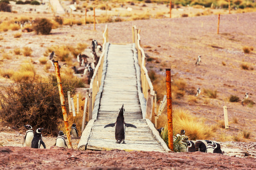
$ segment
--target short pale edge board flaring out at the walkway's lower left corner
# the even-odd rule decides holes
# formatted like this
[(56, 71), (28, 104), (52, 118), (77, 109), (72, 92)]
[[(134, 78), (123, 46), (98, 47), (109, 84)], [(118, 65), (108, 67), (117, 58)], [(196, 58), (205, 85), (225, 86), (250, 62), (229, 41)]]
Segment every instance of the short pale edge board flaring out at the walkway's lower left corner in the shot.
[(86, 125), (84, 131), (82, 132), (81, 139), (79, 141), (79, 145), (77, 146), (78, 150), (85, 151), (86, 146), (88, 144), (88, 139), (90, 137), (90, 132), (92, 131), (93, 124), (96, 120), (91, 119), (88, 124)]

